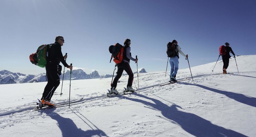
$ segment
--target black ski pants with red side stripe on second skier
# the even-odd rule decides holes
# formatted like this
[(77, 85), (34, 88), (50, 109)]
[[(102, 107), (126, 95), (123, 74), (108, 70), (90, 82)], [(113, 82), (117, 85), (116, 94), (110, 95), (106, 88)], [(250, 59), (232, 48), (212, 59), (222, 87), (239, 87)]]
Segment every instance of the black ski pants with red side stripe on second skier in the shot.
[(117, 64), (117, 72), (114, 77), (113, 82), (111, 83), (111, 87), (116, 87), (117, 81), (122, 75), (123, 70), (129, 75), (128, 82), (127, 82), (127, 87), (132, 86), (132, 81), (133, 81), (133, 73), (130, 68), (130, 65), (128, 62), (121, 62)]

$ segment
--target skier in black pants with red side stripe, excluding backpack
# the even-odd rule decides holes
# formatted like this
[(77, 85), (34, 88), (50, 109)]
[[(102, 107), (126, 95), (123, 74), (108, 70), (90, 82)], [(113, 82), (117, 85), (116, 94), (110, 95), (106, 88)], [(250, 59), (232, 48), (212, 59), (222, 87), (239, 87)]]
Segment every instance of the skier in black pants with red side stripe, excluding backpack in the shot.
[(111, 88), (110, 88), (110, 94), (114, 93), (114, 94), (118, 94), (118, 91), (116, 90), (116, 85), (117, 85), (117, 81), (118, 79), (121, 77), (123, 70), (126, 71), (126, 73), (129, 75), (128, 78), (128, 82), (127, 82), (127, 88), (126, 91), (135, 91), (131, 86), (132, 86), (132, 81), (133, 81), (133, 73), (132, 70), (130, 68), (129, 62), (130, 60), (137, 62), (138, 59), (137, 58), (133, 58), (131, 57), (131, 53), (130, 53), (130, 39), (125, 39), (124, 41), (124, 49), (123, 49), (123, 59), (122, 62), (117, 64), (117, 72), (116, 75), (114, 77), (113, 82), (111, 83)]

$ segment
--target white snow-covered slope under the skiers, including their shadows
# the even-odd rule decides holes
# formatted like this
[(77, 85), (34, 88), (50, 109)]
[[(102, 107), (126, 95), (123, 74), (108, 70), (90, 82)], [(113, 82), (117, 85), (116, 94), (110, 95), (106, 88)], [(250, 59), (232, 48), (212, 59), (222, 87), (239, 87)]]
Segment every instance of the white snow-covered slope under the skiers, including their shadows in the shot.
[[(256, 136), (255, 58), (236, 56), (236, 67), (232, 57), (228, 74), (221, 59), (191, 67), (193, 81), (164, 86), (165, 71), (139, 73), (140, 89), (115, 97), (106, 97), (111, 77), (64, 80), (52, 100), (68, 102), (70, 87), (70, 108), (33, 110), (46, 82), (0, 84), (0, 136)], [(185, 77), (189, 68), (179, 69), (177, 79)]]

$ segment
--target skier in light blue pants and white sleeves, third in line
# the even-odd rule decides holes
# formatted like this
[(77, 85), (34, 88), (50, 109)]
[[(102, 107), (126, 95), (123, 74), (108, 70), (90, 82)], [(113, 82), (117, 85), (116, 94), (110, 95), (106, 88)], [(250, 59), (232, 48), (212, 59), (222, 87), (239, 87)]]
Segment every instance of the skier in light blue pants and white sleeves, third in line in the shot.
[(178, 45), (178, 42), (173, 39), (171, 44), (174, 44), (175, 45), (175, 55), (173, 57), (169, 57), (169, 63), (170, 63), (170, 80), (169, 82), (176, 82), (176, 73), (178, 71), (178, 53), (180, 53), (181, 55), (183, 55), (184, 57), (188, 57), (188, 55), (184, 54), (182, 51), (181, 51), (181, 48), (180, 46)]

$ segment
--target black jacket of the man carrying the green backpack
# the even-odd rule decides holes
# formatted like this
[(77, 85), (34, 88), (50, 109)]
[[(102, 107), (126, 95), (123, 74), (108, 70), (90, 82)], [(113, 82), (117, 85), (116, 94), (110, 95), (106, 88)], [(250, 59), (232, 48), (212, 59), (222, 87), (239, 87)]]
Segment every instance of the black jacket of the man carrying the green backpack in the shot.
[(48, 48), (47, 64), (59, 64), (60, 62), (65, 67), (68, 65), (61, 52), (61, 45), (55, 41), (55, 43)]

